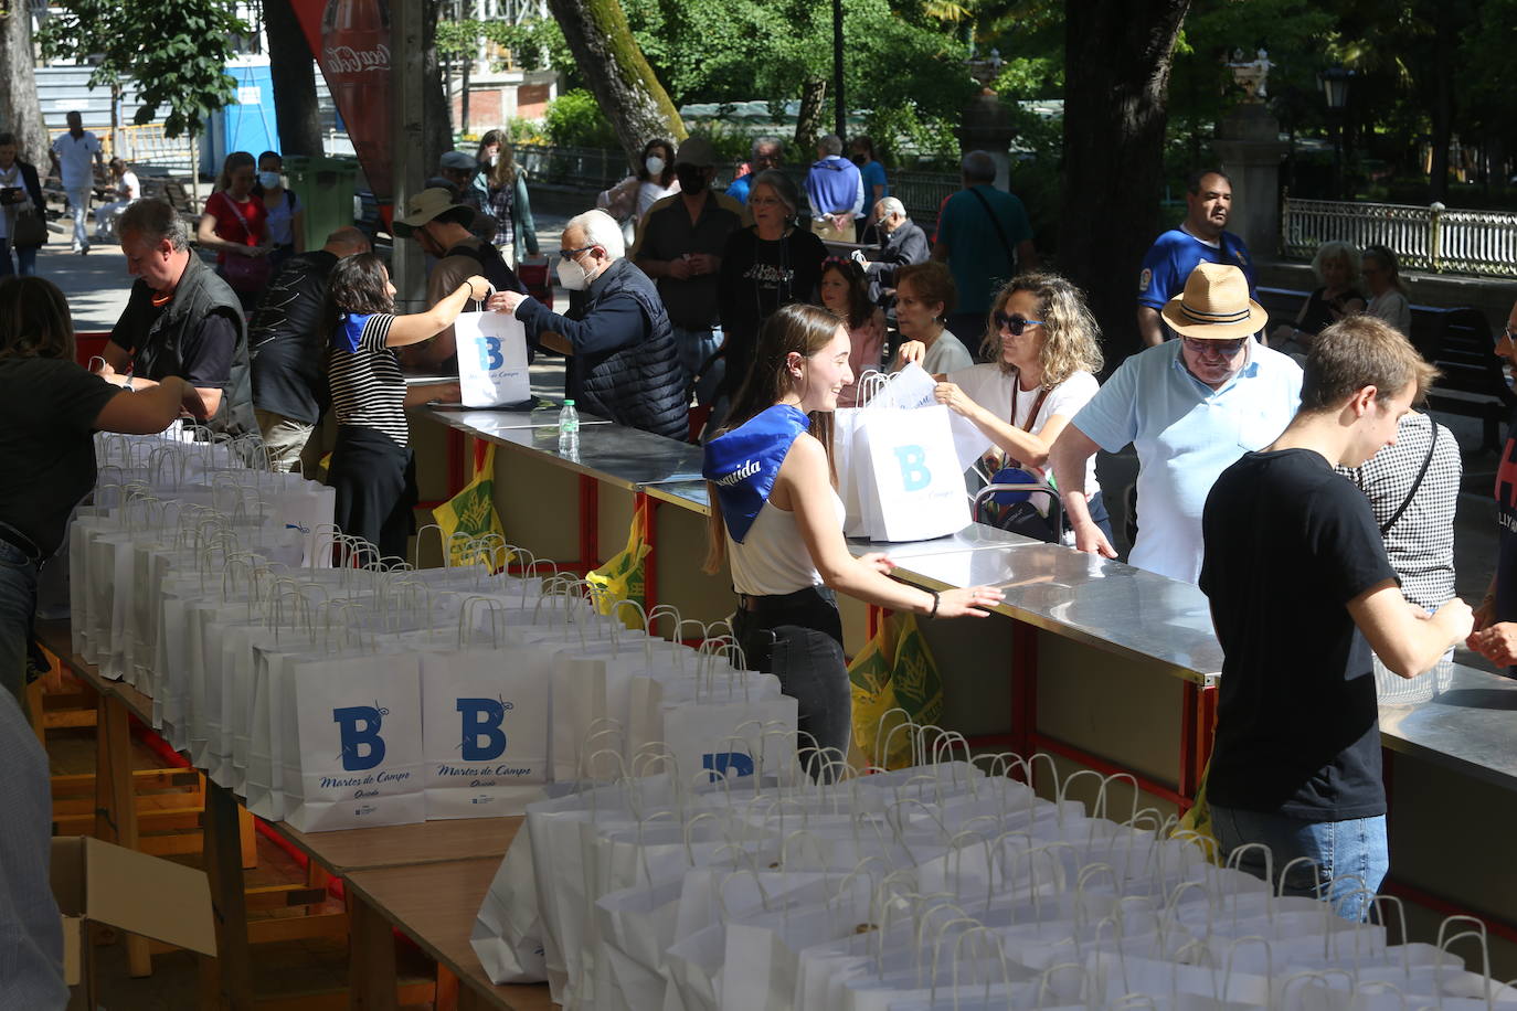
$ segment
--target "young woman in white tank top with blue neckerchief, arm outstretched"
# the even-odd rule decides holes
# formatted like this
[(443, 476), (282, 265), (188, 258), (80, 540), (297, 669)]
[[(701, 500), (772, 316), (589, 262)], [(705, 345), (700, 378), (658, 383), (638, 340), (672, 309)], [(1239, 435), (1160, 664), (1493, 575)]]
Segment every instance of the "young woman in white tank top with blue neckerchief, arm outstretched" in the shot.
[(705, 571), (731, 559), (734, 631), (748, 665), (799, 703), (802, 741), (845, 758), (853, 726), (833, 591), (927, 617), (985, 617), (994, 587), (934, 593), (889, 577), (883, 553), (854, 558), (831, 464), (831, 412), (850, 382), (848, 330), (825, 309), (780, 308), (758, 333), (731, 427), (707, 444), (711, 491)]

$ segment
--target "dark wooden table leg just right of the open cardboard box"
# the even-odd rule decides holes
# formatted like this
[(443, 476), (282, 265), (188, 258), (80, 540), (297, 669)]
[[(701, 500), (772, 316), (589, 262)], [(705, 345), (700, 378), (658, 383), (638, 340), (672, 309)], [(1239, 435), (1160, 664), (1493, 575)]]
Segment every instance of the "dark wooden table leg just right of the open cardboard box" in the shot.
[(253, 962), (247, 946), (247, 897), (237, 796), (206, 781), (205, 872), (215, 912), (215, 958), (200, 961), (200, 1006), (253, 1008)]

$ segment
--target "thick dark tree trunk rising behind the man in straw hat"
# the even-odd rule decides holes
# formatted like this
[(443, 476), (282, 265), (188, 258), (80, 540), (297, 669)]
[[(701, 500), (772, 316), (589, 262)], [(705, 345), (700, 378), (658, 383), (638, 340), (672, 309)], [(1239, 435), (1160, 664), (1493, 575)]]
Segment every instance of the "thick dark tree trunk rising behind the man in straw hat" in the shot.
[(1101, 324), (1106, 362), (1138, 350), (1138, 271), (1159, 233), (1174, 41), (1189, 0), (1085, 0), (1065, 9), (1059, 267)]

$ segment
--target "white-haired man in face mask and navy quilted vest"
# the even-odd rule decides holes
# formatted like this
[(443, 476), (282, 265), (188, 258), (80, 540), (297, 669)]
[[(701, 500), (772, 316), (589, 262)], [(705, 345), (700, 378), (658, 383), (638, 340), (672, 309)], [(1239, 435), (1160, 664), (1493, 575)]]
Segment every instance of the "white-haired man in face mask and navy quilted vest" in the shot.
[(490, 308), (514, 314), (529, 340), (569, 355), (564, 394), (579, 408), (686, 441), (689, 400), (674, 326), (654, 282), (625, 253), (616, 220), (586, 211), (564, 226), (558, 252), (558, 283), (589, 294), (584, 318), (561, 317), (514, 291), (492, 296)]

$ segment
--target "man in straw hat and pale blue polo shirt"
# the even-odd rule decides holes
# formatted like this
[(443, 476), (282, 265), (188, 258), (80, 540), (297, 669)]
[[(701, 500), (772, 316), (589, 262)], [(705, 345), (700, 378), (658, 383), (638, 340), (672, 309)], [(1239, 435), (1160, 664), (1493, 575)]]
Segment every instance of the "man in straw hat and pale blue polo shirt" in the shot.
[(1217, 474), (1268, 446), (1296, 414), (1302, 368), (1252, 340), (1268, 321), (1236, 267), (1197, 264), (1164, 306), (1183, 340), (1132, 355), (1065, 426), (1050, 450), (1076, 547), (1117, 558), (1091, 520), (1086, 462), (1132, 443), (1142, 514), (1129, 562), (1195, 582), (1201, 508)]

